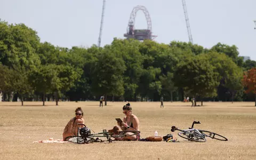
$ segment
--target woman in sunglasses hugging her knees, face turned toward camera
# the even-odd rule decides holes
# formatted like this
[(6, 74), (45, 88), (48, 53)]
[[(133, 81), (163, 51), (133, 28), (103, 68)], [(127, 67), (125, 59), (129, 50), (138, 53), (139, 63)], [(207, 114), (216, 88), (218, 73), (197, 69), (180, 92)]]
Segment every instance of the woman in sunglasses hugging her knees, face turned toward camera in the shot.
[(84, 111), (81, 107), (76, 108), (75, 110), (76, 116), (68, 122), (66, 125), (64, 131), (63, 131), (63, 140), (66, 140), (69, 136), (77, 135), (77, 128), (78, 127), (84, 127), (83, 125), (78, 125), (78, 123), (84, 124)]

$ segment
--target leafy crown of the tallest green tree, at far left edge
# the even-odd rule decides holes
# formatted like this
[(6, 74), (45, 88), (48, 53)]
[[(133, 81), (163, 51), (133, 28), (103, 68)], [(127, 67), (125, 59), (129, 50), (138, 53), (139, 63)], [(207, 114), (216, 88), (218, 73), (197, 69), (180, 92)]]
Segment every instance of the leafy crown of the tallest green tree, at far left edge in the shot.
[(39, 65), (36, 54), (39, 37), (35, 30), (24, 24), (9, 25), (0, 21), (0, 61), (3, 65), (13, 65), (31, 68)]

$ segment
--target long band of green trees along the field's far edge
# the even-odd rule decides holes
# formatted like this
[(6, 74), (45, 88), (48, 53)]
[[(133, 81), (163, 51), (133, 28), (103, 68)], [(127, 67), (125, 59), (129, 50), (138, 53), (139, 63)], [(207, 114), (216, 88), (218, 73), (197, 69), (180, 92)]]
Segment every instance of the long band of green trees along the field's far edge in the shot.
[[(23, 23), (0, 20), (0, 91), (3, 101), (254, 101), (245, 73), (256, 67), (235, 45), (114, 38), (103, 47), (71, 49), (40, 42)], [(13, 96), (11, 96), (13, 95)]]

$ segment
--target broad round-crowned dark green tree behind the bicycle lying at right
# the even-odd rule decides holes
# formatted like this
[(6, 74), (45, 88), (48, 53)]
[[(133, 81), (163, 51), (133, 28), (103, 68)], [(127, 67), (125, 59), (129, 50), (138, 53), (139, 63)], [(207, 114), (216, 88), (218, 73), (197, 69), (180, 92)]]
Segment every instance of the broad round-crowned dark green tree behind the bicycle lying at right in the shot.
[[(181, 61), (174, 73), (174, 83), (178, 87), (193, 95), (216, 94), (218, 86), (218, 73), (214, 72), (213, 66), (203, 57), (189, 57)], [(195, 101), (196, 105), (196, 101)]]

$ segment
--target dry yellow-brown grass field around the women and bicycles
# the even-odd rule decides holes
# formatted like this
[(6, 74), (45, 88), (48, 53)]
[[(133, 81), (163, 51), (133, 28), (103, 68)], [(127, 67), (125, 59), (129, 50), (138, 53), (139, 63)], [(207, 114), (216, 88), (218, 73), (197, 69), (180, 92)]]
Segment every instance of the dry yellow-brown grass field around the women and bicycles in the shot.
[[(204, 102), (191, 108), (190, 102), (131, 102), (139, 117), (141, 138), (172, 133), (180, 142), (114, 141), (113, 143), (33, 143), (49, 138), (62, 139), (62, 131), (75, 108), (84, 110), (85, 124), (94, 132), (111, 129), (115, 118), (123, 118), (125, 102), (0, 102), (0, 159), (255, 159), (256, 108), (254, 102)], [(228, 141), (207, 138), (191, 142), (171, 132), (171, 126), (219, 133)]]

